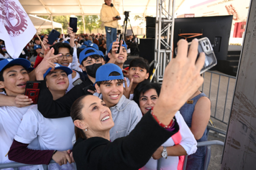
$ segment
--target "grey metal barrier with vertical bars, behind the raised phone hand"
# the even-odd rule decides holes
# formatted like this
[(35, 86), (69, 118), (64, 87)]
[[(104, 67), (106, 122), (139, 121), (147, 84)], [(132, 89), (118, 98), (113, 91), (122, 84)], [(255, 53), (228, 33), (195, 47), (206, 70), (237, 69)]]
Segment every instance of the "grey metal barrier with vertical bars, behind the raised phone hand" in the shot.
[(215, 71), (206, 71), (203, 77), (204, 84), (199, 90), (211, 100), (211, 117), (227, 125), (236, 77)]

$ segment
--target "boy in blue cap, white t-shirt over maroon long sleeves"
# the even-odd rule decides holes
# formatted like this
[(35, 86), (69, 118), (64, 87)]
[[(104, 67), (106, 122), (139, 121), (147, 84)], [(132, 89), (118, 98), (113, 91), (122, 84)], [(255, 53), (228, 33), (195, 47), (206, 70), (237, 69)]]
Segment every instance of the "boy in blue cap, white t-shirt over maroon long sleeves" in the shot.
[[(55, 63), (53, 71), (51, 69), (49, 68), (44, 75), (41, 73), (41, 76), (44, 76), (45, 83), (53, 99), (56, 100), (65, 95), (69, 85), (67, 75), (71, 74), (72, 70), (58, 63)], [(74, 135), (73, 128), (71, 117), (46, 119), (38, 111), (38, 106), (32, 105), (23, 115), (22, 122), (14, 136), (8, 153), (9, 159), (24, 164), (49, 164), (51, 159), (59, 165), (67, 160), (71, 163), (70, 152), (67, 150), (73, 147), (70, 142)], [(34, 141), (38, 141), (38, 147), (29, 150), (28, 145)], [(53, 170), (56, 167), (74, 169), (73, 164), (62, 165), (62, 167), (58, 164), (49, 164), (48, 169)], [(39, 169), (40, 167), (42, 168), (42, 165), (39, 165)]]

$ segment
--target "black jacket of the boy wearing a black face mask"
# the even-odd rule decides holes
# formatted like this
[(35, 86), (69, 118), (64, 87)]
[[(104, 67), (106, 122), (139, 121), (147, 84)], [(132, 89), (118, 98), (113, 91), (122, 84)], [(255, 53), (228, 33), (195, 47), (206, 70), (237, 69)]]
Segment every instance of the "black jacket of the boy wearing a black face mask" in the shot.
[(46, 82), (44, 80), (40, 82), (41, 87), (38, 97), (38, 111), (40, 111), (45, 118), (50, 119), (70, 116), (70, 108), (73, 105), (73, 102), (79, 97), (87, 94), (87, 92), (84, 92), (83, 88), (88, 85), (93, 85), (93, 82), (90, 81), (90, 79), (87, 79), (80, 85), (73, 87), (63, 97), (53, 100), (52, 94), (46, 86)]

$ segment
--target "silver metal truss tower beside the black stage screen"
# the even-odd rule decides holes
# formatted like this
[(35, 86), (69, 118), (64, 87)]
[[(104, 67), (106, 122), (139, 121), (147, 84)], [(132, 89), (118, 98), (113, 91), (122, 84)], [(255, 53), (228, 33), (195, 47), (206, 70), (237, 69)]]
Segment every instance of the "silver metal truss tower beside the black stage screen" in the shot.
[[(167, 2), (166, 2), (167, 1)], [(169, 8), (166, 8), (169, 5)], [(157, 0), (155, 26), (154, 81), (163, 81), (166, 65), (172, 59), (175, 0)], [(161, 44), (162, 47), (161, 48)], [(152, 64), (152, 63), (151, 63)], [(151, 77), (152, 80), (153, 77)]]

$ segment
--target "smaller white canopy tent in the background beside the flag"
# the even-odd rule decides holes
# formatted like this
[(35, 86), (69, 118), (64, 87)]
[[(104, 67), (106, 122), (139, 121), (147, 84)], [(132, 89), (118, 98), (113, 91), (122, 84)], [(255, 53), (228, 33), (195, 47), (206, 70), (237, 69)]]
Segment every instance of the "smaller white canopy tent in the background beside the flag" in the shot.
[(33, 25), (35, 26), (35, 29), (38, 31), (40, 29), (47, 29), (47, 28), (61, 28), (61, 32), (63, 32), (62, 24), (52, 22), (51, 20), (47, 20), (41, 17), (37, 17), (35, 15), (29, 14), (29, 18), (32, 21)]

